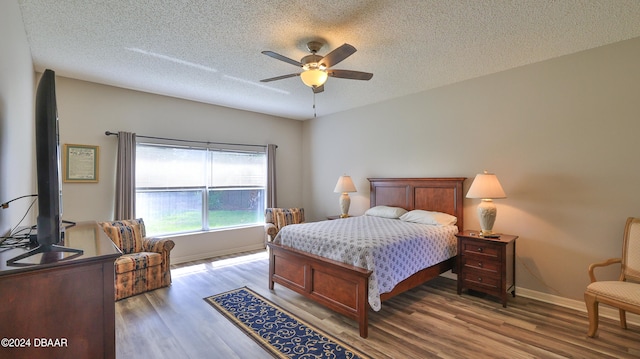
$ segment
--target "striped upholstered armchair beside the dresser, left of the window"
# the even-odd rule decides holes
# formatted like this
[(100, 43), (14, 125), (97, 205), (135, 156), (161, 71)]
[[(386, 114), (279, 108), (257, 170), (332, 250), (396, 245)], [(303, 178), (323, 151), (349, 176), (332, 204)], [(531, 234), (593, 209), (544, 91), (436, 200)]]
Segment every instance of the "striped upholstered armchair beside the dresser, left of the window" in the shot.
[(172, 240), (148, 238), (142, 218), (100, 225), (123, 253), (115, 262), (116, 300), (171, 284)]

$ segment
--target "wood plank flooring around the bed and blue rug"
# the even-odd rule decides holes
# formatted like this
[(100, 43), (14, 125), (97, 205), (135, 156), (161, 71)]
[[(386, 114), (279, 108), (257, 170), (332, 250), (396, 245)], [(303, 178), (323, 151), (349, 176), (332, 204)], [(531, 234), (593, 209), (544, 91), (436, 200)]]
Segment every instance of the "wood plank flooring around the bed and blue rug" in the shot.
[[(456, 293), (439, 277), (371, 312), (369, 338), (355, 321), (267, 283), (266, 252), (173, 266), (173, 284), (116, 302), (116, 350), (128, 358), (271, 358), (203, 298), (247, 286), (371, 358), (640, 358), (640, 327), (601, 318), (588, 338), (587, 316), (523, 297)], [(632, 315), (632, 314), (629, 314)]]

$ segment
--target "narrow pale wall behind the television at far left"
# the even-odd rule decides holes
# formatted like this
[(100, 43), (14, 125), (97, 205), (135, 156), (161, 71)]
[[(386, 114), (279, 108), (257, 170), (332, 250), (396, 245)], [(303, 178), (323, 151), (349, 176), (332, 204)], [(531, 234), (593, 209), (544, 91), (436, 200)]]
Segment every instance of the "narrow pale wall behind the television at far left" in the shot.
[[(22, 14), (0, 2), (0, 202), (35, 193), (34, 73)], [(0, 236), (15, 227), (33, 198), (0, 210)], [(32, 224), (31, 210), (25, 224)]]

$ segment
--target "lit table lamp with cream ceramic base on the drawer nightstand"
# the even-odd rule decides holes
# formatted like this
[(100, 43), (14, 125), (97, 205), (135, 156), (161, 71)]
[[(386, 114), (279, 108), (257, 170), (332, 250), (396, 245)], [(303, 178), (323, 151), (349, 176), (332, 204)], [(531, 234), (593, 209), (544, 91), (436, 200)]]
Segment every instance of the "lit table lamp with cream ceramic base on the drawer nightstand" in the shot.
[(496, 221), (496, 213), (498, 212), (493, 199), (507, 198), (504, 193), (498, 177), (493, 173), (479, 173), (473, 179), (467, 198), (481, 198), (482, 202), (478, 205), (478, 218), (480, 219), (480, 228), (483, 236), (493, 235), (493, 224)]

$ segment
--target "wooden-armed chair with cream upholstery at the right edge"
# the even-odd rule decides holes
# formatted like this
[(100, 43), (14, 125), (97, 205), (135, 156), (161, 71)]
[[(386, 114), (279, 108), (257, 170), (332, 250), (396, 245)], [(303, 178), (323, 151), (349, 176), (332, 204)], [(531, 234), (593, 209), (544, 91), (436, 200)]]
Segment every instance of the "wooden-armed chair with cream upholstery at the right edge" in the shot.
[[(620, 264), (617, 281), (596, 281), (594, 270), (611, 264)], [(591, 284), (584, 292), (589, 314), (589, 331), (594, 337), (598, 330), (598, 303), (618, 308), (620, 326), (627, 329), (626, 312), (640, 314), (640, 218), (628, 218), (624, 230), (622, 258), (611, 258), (589, 266)]]

